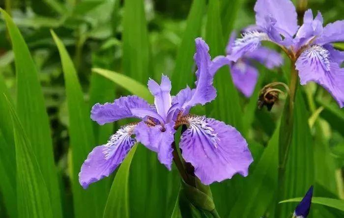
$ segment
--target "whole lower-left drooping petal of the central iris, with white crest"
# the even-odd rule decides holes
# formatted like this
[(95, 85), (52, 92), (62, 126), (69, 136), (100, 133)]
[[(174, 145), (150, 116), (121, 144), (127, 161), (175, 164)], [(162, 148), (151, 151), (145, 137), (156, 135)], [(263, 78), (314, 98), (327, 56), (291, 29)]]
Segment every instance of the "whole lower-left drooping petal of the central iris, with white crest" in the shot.
[(89, 153), (79, 173), (79, 183), (84, 189), (109, 176), (123, 162), (135, 143), (131, 137), (134, 128), (135, 125), (121, 127), (107, 144), (97, 146)]

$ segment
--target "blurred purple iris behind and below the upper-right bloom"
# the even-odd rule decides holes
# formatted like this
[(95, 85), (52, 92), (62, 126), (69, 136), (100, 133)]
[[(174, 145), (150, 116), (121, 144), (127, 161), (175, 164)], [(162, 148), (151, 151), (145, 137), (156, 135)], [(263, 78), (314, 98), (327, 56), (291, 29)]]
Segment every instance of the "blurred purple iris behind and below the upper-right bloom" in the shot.
[[(257, 31), (257, 28), (250, 27), (246, 31)], [(229, 43), (226, 48), (226, 53), (230, 56), (235, 47), (236, 33), (233, 31), (229, 37)], [(259, 47), (252, 52), (247, 52), (239, 59), (229, 62), (230, 73), (235, 87), (244, 94), (245, 97), (250, 97), (255, 90), (258, 80), (258, 70), (254, 65), (257, 61), (268, 69), (281, 66), (283, 58), (281, 54), (268, 49), (266, 47)]]

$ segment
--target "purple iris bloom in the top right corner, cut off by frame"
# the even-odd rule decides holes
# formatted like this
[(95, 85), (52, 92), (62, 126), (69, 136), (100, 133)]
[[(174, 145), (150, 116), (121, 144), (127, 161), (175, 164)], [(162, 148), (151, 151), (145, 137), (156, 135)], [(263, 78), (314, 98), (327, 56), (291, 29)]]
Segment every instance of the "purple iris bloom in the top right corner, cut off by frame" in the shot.
[(335, 50), (331, 43), (344, 41), (344, 20), (322, 27), (318, 12), (305, 12), (301, 27), (290, 0), (257, 0), (256, 25), (259, 30), (248, 31), (235, 41), (230, 55), (237, 61), (248, 52), (256, 51), (261, 41), (279, 45), (295, 61), (300, 83), (316, 82), (331, 93), (342, 108), (344, 106), (344, 53)]

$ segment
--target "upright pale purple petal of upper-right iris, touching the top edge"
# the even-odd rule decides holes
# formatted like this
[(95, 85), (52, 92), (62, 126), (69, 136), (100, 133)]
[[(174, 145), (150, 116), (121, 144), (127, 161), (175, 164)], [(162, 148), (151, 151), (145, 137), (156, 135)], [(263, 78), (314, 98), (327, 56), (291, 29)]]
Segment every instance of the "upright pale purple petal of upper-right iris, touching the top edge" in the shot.
[(298, 29), (296, 9), (290, 0), (257, 0), (255, 12), (256, 24), (260, 27), (264, 27), (266, 16), (271, 16), (276, 20), (275, 26), (290, 36)]

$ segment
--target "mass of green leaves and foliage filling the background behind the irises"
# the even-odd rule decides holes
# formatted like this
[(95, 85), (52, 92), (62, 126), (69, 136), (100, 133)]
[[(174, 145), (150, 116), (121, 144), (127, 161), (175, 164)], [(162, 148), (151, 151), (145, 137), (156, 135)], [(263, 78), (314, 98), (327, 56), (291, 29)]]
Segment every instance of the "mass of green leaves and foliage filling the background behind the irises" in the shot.
[[(296, 5), (298, 2), (294, 2)], [(342, 0), (309, 0), (324, 23), (343, 20)], [(148, 77), (172, 78), (172, 94), (195, 81), (194, 39), (212, 57), (225, 53), (229, 33), (254, 23), (255, 0), (4, 0), (0, 2), (0, 217), (180, 217), (177, 170), (138, 144), (116, 173), (83, 190), (78, 172), (88, 152), (121, 122), (99, 126), (92, 105), (137, 94), (152, 102)], [(270, 46), (270, 45), (268, 45)], [(338, 48), (344, 48), (338, 44)], [(289, 63), (259, 66), (246, 99), (227, 67), (215, 77), (217, 99), (199, 114), (225, 121), (248, 140), (249, 176), (211, 185), (221, 217), (275, 217), (279, 118), (257, 110), (259, 89), (287, 80)], [(344, 110), (321, 87), (299, 87), (285, 199), (311, 185), (311, 217), (343, 217)], [(184, 189), (187, 189), (184, 187)], [(332, 199), (328, 199), (332, 198)], [(183, 195), (179, 202), (185, 201)], [(178, 201), (177, 201), (178, 202)], [(284, 203), (290, 217), (297, 203)], [(324, 206), (326, 205), (326, 206)], [(211, 216), (189, 205), (193, 216)], [(341, 211), (342, 208), (342, 211)], [(174, 210), (174, 211), (173, 211)], [(172, 215), (173, 212), (173, 215)], [(189, 214), (191, 215), (191, 214)]]

